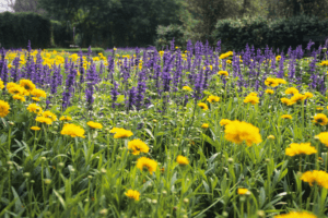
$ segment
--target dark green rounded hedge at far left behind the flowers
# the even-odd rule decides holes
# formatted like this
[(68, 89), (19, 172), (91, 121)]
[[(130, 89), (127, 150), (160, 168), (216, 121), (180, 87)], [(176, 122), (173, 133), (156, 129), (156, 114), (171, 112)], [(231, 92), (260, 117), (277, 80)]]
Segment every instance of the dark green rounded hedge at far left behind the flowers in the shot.
[(3, 48), (33, 48), (50, 46), (50, 21), (34, 13), (0, 13), (0, 44)]

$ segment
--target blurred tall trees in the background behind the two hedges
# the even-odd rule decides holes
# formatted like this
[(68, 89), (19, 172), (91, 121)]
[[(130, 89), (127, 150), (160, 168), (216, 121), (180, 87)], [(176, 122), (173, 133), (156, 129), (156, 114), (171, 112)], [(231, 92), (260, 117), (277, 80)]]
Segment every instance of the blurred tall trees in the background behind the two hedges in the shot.
[[(327, 17), (328, 0), (7, 0), (14, 12), (51, 20), (56, 45), (165, 46), (175, 37), (216, 40), (222, 20)], [(216, 34), (218, 35), (218, 34)]]

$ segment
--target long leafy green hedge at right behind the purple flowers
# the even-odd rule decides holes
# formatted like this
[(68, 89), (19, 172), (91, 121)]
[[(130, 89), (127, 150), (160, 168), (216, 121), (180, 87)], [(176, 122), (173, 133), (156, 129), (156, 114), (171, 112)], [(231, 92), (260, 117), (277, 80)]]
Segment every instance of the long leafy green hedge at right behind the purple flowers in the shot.
[[(221, 20), (218, 21), (212, 37), (222, 40), (223, 51), (242, 50), (246, 44), (255, 48), (265, 48), (267, 45), (274, 49), (286, 50), (290, 46), (306, 47), (305, 36), (327, 36), (328, 20), (315, 16), (300, 15), (274, 21), (262, 17)], [(316, 43), (318, 45), (318, 43)]]

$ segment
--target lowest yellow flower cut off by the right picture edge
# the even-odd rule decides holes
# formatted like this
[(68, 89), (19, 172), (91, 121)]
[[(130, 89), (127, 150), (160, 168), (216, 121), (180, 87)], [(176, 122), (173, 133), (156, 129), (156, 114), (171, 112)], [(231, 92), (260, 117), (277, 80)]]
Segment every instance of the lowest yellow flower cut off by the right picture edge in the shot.
[(317, 183), (319, 186), (328, 189), (328, 173), (323, 170), (306, 171), (302, 174), (301, 180), (307, 182), (309, 186)]

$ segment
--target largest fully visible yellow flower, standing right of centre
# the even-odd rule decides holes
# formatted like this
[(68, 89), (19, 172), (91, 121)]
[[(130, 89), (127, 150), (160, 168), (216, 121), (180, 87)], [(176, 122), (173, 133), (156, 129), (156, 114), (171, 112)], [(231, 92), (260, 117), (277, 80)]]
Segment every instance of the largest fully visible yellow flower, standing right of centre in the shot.
[(251, 146), (253, 144), (262, 142), (258, 128), (238, 120), (231, 121), (226, 124), (224, 133), (225, 140), (236, 144), (241, 144), (245, 141), (247, 146)]

